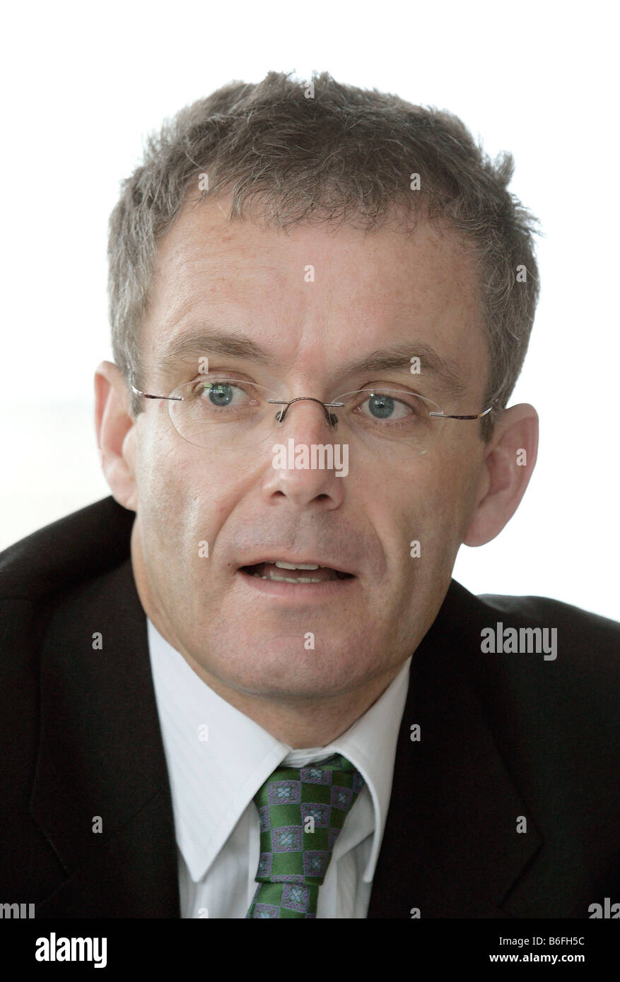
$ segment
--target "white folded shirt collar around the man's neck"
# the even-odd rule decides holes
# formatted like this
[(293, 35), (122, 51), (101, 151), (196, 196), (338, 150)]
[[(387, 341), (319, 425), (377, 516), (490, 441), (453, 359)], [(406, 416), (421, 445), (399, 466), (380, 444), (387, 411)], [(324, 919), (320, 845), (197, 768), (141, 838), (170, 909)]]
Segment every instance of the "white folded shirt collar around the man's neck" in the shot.
[(280, 764), (304, 766), (342, 753), (362, 774), (372, 800), (374, 835), (364, 873), (369, 883), (383, 839), (411, 657), (349, 730), (328, 746), (293, 749), (217, 695), (146, 620), (177, 845), (192, 879), (204, 876)]

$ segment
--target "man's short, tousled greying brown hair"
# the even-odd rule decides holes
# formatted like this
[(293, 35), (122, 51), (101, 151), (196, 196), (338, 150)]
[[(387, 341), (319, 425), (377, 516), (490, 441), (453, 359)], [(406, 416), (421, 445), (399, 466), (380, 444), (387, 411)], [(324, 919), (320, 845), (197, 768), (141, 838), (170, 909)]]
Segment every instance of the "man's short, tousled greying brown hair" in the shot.
[[(340, 220), (371, 231), (396, 208), (414, 222), (447, 222), (476, 259), (490, 363), (480, 410), (496, 407), (482, 419), (480, 435), (490, 439), (519, 377), (539, 293), (538, 221), (507, 190), (512, 155), (504, 151), (491, 161), (452, 113), (341, 84), (327, 72), (310, 82), (291, 74), (230, 82), (147, 137), (143, 162), (122, 183), (109, 221), (117, 365), (128, 382), (141, 379), (141, 322), (157, 242), (200, 174), (208, 174), (202, 196), (232, 191), (231, 221), (245, 217), (254, 197), (276, 228)], [(141, 403), (133, 398), (135, 414)]]

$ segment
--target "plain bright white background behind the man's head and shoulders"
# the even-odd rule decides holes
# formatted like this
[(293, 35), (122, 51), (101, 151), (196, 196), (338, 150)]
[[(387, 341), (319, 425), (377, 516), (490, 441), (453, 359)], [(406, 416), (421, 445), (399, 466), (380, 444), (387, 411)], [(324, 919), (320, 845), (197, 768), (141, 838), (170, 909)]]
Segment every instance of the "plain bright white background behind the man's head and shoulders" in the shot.
[(107, 219), (163, 117), (233, 79), (313, 69), (462, 118), (540, 219), (542, 296), (512, 402), (538, 463), (477, 593), (618, 602), (617, 25), (602, 3), (29, 4), (4, 15), (0, 548), (109, 493), (93, 424), (111, 359)]

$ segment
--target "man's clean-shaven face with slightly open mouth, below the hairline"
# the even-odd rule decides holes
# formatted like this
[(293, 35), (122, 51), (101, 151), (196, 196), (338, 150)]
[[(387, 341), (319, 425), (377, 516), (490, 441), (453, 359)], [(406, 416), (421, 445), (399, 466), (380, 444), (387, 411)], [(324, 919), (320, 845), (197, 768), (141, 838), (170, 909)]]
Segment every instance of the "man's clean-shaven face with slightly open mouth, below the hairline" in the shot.
[[(244, 334), (268, 363), (203, 349), (160, 369), (171, 341), (204, 328)], [(462, 395), (424, 368), (347, 368), (395, 346), (413, 357), (422, 344), (452, 363)], [(456, 237), (426, 223), (413, 238), (327, 225), (285, 234), (230, 223), (217, 202), (186, 206), (159, 244), (141, 350), (143, 389), (155, 395), (198, 381), (206, 355), (210, 374), (242, 375), (286, 399), (328, 402), (382, 383), (444, 412), (484, 409), (477, 274)], [(188, 443), (169, 405), (144, 400), (124, 448), (136, 480), (134, 569), (159, 631), (213, 679), (267, 699), (320, 700), (395, 672), (436, 616), (477, 504), (479, 423), (446, 420), (413, 460), (351, 445), (339, 477), (273, 466), (276, 443), (340, 441), (315, 402), (291, 406), (272, 440), (244, 450)], [(241, 569), (278, 559), (355, 575), (275, 592)]]

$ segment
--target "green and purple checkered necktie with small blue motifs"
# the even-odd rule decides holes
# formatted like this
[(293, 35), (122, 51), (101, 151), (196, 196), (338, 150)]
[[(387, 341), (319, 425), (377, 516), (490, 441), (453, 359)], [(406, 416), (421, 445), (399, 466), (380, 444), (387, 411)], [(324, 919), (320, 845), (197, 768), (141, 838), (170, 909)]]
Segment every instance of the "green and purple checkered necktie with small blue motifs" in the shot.
[(316, 917), (333, 847), (365, 784), (340, 753), (273, 772), (254, 794), (260, 858), (246, 917)]

